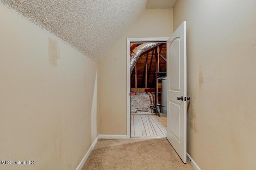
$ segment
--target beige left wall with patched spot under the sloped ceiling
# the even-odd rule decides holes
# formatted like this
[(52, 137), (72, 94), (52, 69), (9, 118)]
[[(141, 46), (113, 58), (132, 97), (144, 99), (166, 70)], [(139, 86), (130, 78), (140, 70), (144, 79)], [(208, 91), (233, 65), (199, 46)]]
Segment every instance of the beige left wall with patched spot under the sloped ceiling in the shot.
[(0, 169), (76, 169), (97, 135), (99, 64), (2, 4), (0, 25), (0, 160), (35, 161)]

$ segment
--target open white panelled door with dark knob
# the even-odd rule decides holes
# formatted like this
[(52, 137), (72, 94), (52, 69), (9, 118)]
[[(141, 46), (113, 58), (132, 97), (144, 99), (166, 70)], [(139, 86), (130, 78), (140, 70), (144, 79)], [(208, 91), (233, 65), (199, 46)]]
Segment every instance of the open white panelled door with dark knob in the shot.
[(186, 21), (183, 21), (167, 40), (167, 139), (184, 163), (187, 152), (186, 55)]

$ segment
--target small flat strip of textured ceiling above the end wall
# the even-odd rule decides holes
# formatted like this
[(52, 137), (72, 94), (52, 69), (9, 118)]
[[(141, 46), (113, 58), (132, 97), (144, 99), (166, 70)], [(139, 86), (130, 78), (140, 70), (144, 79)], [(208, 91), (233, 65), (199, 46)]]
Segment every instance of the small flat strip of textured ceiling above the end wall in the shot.
[(147, 9), (173, 8), (178, 0), (147, 0)]

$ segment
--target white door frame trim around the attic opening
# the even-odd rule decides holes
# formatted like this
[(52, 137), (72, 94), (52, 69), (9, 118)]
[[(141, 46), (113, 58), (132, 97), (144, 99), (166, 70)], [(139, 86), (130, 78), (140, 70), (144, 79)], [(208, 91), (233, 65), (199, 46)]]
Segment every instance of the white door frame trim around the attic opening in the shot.
[(169, 37), (127, 38), (126, 42), (126, 135), (130, 139), (130, 43), (167, 41)]

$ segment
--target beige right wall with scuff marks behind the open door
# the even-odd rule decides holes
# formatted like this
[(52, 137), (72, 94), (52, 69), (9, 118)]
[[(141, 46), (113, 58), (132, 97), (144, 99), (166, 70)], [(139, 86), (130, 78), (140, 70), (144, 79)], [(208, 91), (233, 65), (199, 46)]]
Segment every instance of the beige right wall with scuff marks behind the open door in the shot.
[(256, 169), (256, 1), (178, 0), (187, 21), (188, 153), (202, 170)]

